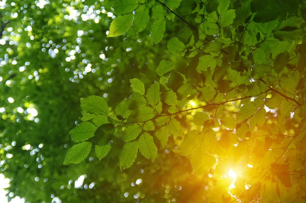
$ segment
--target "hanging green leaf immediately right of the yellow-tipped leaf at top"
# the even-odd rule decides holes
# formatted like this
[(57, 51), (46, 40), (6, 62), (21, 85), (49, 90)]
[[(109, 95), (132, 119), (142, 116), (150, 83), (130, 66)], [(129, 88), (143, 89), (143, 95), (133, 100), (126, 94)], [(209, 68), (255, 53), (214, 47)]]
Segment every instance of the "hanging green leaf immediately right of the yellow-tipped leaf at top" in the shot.
[(143, 31), (147, 26), (150, 18), (149, 8), (149, 4), (143, 4), (135, 11), (134, 24), (138, 32)]

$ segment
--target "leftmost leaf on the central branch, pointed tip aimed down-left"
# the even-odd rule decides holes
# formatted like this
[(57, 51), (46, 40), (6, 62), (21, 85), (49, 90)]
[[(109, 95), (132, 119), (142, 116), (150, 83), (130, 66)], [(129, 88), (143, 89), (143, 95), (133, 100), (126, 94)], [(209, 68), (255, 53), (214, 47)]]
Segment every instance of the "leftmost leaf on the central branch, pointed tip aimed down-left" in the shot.
[(90, 153), (91, 142), (81, 142), (73, 145), (67, 152), (64, 160), (64, 165), (79, 164), (81, 163)]

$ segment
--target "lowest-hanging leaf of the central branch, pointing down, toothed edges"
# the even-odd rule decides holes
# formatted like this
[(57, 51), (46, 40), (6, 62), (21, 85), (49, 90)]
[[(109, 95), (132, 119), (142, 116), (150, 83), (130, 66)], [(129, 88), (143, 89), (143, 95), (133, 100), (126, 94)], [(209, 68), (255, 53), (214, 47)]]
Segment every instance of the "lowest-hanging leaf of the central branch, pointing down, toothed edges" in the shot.
[(138, 142), (127, 142), (123, 145), (119, 154), (119, 164), (121, 169), (130, 168), (136, 160), (138, 153)]

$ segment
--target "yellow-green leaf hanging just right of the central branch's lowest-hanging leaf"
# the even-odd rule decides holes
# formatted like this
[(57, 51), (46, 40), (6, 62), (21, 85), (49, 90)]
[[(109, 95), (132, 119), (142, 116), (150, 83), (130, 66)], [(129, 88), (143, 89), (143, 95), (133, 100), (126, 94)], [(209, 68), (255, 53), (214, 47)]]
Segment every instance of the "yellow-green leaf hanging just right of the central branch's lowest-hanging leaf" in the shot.
[(150, 159), (153, 163), (157, 156), (157, 147), (153, 137), (148, 133), (143, 133), (138, 139), (139, 151), (146, 159)]

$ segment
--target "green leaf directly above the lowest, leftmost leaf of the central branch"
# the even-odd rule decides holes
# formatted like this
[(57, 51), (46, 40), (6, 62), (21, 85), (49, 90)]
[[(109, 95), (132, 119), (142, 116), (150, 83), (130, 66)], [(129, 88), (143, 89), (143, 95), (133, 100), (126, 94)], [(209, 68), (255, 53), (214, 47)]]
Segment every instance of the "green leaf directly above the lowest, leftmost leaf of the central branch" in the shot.
[(82, 122), (75, 126), (69, 134), (74, 142), (83, 142), (94, 136), (97, 127), (90, 122)]

